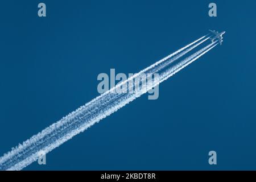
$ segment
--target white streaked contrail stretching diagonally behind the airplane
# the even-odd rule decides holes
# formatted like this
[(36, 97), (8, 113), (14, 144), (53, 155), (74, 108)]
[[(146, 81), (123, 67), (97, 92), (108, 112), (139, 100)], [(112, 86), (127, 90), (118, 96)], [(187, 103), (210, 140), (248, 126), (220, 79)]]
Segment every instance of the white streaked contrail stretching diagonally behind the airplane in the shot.
[[(127, 80), (122, 81), (114, 88), (111, 88), (107, 92), (94, 98), (84, 106), (81, 106), (79, 109), (60, 119), (60, 121), (53, 123), (40, 133), (32, 136), (22, 144), (19, 144), (0, 158), (0, 170), (23, 169), (36, 161), (42, 153), (47, 154), (75, 135), (88, 129), (88, 127), (94, 125), (94, 123), (99, 122), (101, 119), (108, 117), (121, 107), (129, 104), (129, 102), (148, 92), (148, 90), (159, 85), (164, 80), (167, 80), (193, 61), (199, 59), (199, 57), (210, 51), (210, 49), (217, 46), (217, 42), (206, 44), (208, 39), (208, 35), (203, 36), (171, 55), (164, 57), (164, 59), (157, 61), (155, 64), (150, 65), (150, 67), (147, 67), (134, 76), (129, 77)], [(191, 52), (193, 49), (199, 48), (199, 46), (203, 46), (204, 44), (206, 45), (203, 48), (192, 53), (190, 56), (184, 57), (188, 52)], [(152, 80), (151, 86), (142, 85), (141, 89), (135, 89), (135, 92), (133, 93), (113, 93), (114, 90), (121, 88), (129, 81), (138, 78), (142, 73), (158, 73), (159, 79)], [(129, 85), (127, 90), (130, 88), (137, 88), (138, 86), (141, 86), (140, 83), (135, 82), (134, 85)]]

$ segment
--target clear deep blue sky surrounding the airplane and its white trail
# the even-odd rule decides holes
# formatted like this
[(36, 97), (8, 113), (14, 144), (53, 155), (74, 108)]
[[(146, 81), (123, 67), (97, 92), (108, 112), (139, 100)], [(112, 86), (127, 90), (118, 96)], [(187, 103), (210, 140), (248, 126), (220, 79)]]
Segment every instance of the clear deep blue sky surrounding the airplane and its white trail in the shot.
[[(224, 43), (26, 169), (256, 169), (255, 1), (3, 1), (0, 155), (98, 96), (97, 75), (135, 73), (200, 38)], [(139, 108), (139, 109), (138, 109)], [(217, 152), (217, 166), (208, 152)]]

